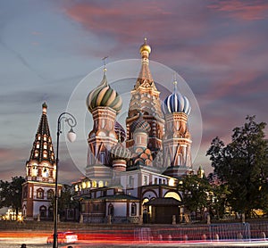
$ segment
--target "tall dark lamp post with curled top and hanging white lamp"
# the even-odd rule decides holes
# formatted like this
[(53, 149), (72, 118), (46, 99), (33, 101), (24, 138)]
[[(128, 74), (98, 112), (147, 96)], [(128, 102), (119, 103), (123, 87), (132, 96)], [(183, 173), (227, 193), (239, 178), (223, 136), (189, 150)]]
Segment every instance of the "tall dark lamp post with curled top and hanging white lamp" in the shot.
[(56, 169), (55, 169), (55, 182), (54, 182), (54, 238), (53, 238), (53, 248), (58, 247), (58, 164), (59, 164), (59, 141), (61, 130), (61, 121), (65, 120), (68, 126), (71, 128), (67, 134), (67, 138), (70, 142), (74, 142), (76, 139), (76, 134), (73, 131), (73, 127), (76, 126), (77, 121), (74, 116), (69, 112), (63, 112), (58, 118), (57, 126), (57, 148), (56, 148)]

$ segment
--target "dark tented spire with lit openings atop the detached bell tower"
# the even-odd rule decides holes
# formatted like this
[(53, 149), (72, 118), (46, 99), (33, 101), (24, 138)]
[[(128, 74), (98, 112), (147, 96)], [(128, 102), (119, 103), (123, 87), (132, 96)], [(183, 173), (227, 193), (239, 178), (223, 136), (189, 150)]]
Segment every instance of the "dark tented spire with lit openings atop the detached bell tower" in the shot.
[(54, 148), (48, 126), (47, 105), (42, 104), (42, 115), (38, 125), (38, 131), (30, 152), (29, 161), (49, 161), (54, 163)]

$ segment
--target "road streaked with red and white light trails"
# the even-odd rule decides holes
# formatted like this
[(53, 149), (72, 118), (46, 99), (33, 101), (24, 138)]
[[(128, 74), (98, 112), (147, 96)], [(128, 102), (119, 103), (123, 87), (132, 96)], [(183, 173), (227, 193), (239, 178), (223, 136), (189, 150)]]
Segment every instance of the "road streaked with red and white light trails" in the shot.
[[(27, 244), (27, 248), (48, 248), (52, 244), (46, 244), (46, 237), (50, 233), (36, 232), (36, 231), (23, 231), (23, 232), (6, 232), (0, 231), (0, 248), (20, 248), (21, 244)], [(77, 244), (60, 244), (59, 247), (67, 248), (71, 245), (72, 248), (85, 248), (85, 247), (268, 247), (268, 240), (253, 240), (253, 241), (239, 241), (239, 242), (223, 242), (223, 241), (130, 241), (103, 238), (103, 233), (98, 234), (98, 238), (91, 238), (88, 240), (80, 240)]]

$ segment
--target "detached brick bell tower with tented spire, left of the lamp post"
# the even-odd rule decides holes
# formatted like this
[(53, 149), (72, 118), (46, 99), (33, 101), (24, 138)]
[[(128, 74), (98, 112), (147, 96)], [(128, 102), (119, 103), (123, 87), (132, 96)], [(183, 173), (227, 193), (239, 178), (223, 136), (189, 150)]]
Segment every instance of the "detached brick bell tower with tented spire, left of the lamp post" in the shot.
[(26, 182), (22, 185), (22, 215), (26, 219), (53, 219), (54, 216), (56, 165), (46, 111), (43, 103), (38, 131), (26, 162)]

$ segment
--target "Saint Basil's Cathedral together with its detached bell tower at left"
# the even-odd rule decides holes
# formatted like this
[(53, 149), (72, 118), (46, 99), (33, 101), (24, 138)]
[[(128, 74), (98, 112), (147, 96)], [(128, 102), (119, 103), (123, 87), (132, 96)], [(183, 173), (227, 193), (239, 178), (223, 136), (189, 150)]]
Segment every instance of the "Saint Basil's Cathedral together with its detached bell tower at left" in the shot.
[[(106, 68), (99, 86), (86, 99), (93, 118), (92, 130), (88, 130), (86, 177), (73, 183), (81, 222), (172, 223), (179, 222), (184, 211), (177, 186), (183, 175), (193, 173), (190, 103), (180, 94), (176, 80), (172, 94), (162, 102), (149, 69), (147, 40), (139, 53), (141, 69), (130, 92), (126, 129), (116, 120), (123, 103), (109, 85)], [(51, 215), (54, 163), (44, 104), (26, 163), (24, 216)]]

